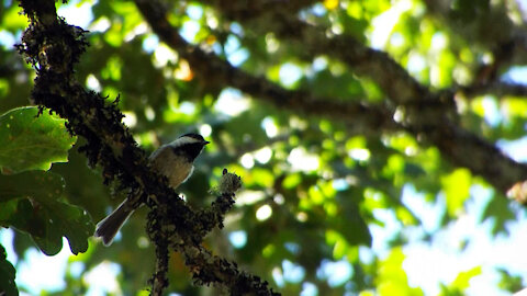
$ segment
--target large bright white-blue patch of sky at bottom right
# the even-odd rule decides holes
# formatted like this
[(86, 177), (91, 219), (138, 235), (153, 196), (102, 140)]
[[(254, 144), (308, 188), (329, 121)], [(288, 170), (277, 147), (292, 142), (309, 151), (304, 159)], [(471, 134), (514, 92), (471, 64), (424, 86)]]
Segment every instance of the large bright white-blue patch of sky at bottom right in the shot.
[[(408, 196), (416, 194), (410, 186), (405, 190), (405, 194)], [(471, 198), (464, 204), (464, 213), (449, 223), (447, 227), (438, 229), (430, 242), (414, 240), (403, 249), (406, 255), (403, 269), (408, 276), (408, 284), (423, 288), (425, 295), (437, 295), (440, 293), (440, 283), (451, 283), (460, 272), (476, 266), (482, 267), (482, 273), (470, 281), (467, 295), (507, 295), (497, 288), (500, 277), (494, 266), (502, 264), (509, 266), (509, 263), (505, 262), (513, 261), (514, 254), (520, 251), (519, 249), (505, 251), (504, 246), (500, 244), (509, 240), (503, 237), (493, 238), (490, 235), (492, 221), (481, 221), (482, 213), (491, 201), (493, 191), (482, 185), (473, 185), (470, 194)], [(405, 197), (403, 202), (411, 204), (412, 209), (419, 217), (438, 216), (433, 207), (419, 206), (417, 200), (410, 203), (408, 197)], [(426, 225), (426, 218), (423, 220)], [(522, 244), (506, 248), (525, 248), (527, 242)], [(527, 263), (527, 259), (520, 261), (523, 261), (522, 264)]]

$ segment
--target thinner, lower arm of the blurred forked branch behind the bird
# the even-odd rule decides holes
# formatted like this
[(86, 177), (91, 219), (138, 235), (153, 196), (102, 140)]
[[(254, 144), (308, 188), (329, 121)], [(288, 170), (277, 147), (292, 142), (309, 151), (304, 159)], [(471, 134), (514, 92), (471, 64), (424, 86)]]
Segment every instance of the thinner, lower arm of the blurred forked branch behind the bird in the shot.
[(232, 86), (251, 94), (256, 100), (272, 103), (278, 107), (345, 119), (352, 128), (361, 132), (378, 133), (397, 128), (397, 124), (393, 122), (393, 113), (386, 106), (341, 102), (330, 98), (316, 98), (306, 91), (285, 90), (267, 79), (254, 77), (233, 67), (217, 56), (187, 43), (170, 25), (166, 11), (158, 1), (136, 0), (135, 3), (155, 33), (187, 59), (192, 70), (209, 86)]

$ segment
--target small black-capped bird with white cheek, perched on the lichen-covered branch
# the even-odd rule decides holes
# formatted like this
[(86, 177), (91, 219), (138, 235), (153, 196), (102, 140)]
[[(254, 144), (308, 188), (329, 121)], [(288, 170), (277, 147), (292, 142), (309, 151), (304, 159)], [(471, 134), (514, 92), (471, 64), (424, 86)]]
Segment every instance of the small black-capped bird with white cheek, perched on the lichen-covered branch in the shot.
[[(201, 135), (186, 134), (159, 147), (148, 159), (152, 168), (167, 177), (169, 185), (177, 189), (192, 174), (194, 159), (208, 144), (209, 141)], [(134, 210), (128, 198), (124, 200), (112, 214), (97, 224), (94, 237), (102, 238), (104, 246), (110, 246), (119, 229)]]

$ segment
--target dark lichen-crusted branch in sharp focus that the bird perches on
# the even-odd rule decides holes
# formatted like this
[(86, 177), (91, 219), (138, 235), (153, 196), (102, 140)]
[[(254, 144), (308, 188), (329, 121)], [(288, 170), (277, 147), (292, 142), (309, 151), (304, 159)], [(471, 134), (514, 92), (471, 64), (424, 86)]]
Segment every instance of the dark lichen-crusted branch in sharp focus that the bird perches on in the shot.
[[(229, 192), (229, 198), (224, 198), (222, 194), (223, 197), (211, 209), (194, 213), (188, 207), (167, 185), (166, 179), (149, 168), (144, 150), (137, 147), (121, 123), (123, 115), (116, 107), (119, 98), (114, 103), (105, 103), (100, 94), (86, 90), (76, 81), (74, 66), (88, 45), (86, 32), (57, 18), (53, 0), (22, 0), (21, 7), (31, 23), (18, 49), (37, 73), (32, 100), (68, 119), (69, 132), (86, 138), (87, 144), (80, 150), (87, 155), (91, 166), (102, 168), (105, 183), (117, 181), (121, 190), (137, 196), (134, 201), (137, 205), (146, 203), (152, 208), (148, 232), (156, 244), (157, 254), (156, 272), (152, 278), (153, 295), (161, 295), (167, 286), (169, 246), (179, 246), (179, 250), (191, 246), (198, 250), (184, 253), (189, 262), (194, 262), (191, 270), (199, 270), (200, 274), (217, 274), (220, 270), (212, 269), (211, 262), (203, 265), (197, 265), (195, 262), (200, 262), (205, 254), (210, 255), (200, 243), (212, 228), (222, 226), (223, 216), (234, 203), (234, 191)], [(214, 260), (226, 262), (215, 257)], [(228, 272), (229, 281), (247, 286), (246, 292), (272, 294), (261, 283), (250, 284), (258, 281), (247, 282), (257, 277), (239, 272), (235, 264), (229, 264), (228, 269), (224, 265), (222, 271)], [(209, 282), (203, 278), (202, 283)]]

